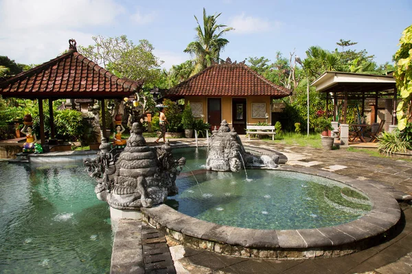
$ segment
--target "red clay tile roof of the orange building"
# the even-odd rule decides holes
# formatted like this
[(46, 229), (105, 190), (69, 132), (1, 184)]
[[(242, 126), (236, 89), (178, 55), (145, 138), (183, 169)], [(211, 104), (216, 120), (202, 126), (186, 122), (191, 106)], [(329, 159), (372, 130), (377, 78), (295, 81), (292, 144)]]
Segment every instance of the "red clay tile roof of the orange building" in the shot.
[(165, 97), (176, 96), (251, 96), (270, 95), (282, 98), (291, 90), (268, 81), (242, 63), (213, 64), (181, 84), (165, 92)]

